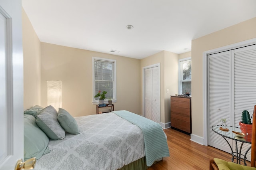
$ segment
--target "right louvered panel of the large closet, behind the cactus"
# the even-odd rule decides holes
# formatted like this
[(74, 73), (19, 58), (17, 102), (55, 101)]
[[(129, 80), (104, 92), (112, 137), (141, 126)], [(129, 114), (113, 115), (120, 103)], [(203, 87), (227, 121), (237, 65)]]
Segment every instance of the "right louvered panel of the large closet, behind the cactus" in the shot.
[[(234, 50), (234, 123), (239, 127), (242, 111), (248, 110), (250, 116), (256, 105), (256, 45)], [(250, 144), (244, 144), (242, 153)], [(238, 145), (240, 148), (240, 144)], [(251, 152), (247, 154), (250, 160)]]

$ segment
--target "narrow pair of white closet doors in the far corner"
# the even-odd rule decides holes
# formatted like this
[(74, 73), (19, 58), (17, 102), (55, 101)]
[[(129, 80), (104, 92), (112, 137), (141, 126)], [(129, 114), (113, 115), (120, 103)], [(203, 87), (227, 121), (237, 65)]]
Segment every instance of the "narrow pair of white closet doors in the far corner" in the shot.
[(144, 116), (160, 123), (160, 66), (144, 68)]

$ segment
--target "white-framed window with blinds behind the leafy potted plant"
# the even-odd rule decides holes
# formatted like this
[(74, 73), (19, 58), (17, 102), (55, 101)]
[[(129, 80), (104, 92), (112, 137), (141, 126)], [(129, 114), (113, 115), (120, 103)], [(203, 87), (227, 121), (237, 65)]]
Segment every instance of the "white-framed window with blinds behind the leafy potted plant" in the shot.
[(99, 98), (94, 98), (98, 91), (106, 91), (105, 101), (111, 98), (116, 100), (116, 60), (93, 57), (93, 102), (98, 102)]

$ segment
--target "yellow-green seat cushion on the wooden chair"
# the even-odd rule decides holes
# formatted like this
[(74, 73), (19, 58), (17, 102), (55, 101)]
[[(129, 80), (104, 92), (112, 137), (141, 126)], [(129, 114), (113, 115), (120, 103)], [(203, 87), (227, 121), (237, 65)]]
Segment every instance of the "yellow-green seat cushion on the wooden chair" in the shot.
[(214, 162), (217, 164), (219, 170), (256, 170), (254, 167), (244, 166), (218, 158), (214, 158)]

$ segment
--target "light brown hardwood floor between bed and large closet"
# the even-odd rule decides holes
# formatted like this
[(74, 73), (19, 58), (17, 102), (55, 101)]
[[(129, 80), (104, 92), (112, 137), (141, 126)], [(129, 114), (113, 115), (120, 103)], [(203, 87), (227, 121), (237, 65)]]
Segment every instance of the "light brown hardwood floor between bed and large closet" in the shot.
[[(231, 154), (212, 146), (203, 146), (190, 140), (190, 136), (177, 130), (164, 129), (170, 157), (165, 157), (148, 170), (208, 170), (211, 158), (231, 161)], [(247, 166), (250, 162), (246, 161)]]

